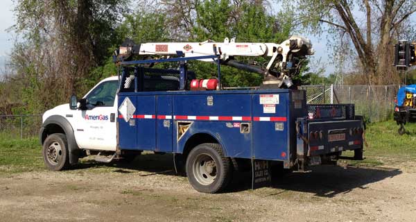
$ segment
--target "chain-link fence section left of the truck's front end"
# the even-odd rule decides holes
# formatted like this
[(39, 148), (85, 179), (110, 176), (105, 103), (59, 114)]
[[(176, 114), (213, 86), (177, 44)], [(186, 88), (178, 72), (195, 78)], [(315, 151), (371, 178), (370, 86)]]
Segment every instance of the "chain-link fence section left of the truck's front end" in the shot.
[(42, 115), (0, 115), (0, 135), (11, 139), (37, 137)]

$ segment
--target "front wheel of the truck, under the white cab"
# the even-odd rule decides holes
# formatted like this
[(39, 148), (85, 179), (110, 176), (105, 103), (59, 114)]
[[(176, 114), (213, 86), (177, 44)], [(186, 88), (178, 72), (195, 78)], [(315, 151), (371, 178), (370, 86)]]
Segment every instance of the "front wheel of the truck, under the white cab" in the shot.
[(68, 169), (70, 164), (67, 137), (62, 133), (46, 137), (42, 155), (46, 168), (52, 171)]

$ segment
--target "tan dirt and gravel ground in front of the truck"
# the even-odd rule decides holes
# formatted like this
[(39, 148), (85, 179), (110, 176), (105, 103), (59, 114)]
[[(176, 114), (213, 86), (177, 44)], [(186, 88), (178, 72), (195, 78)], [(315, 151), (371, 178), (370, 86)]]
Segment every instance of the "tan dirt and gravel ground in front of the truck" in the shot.
[(256, 190), (240, 173), (226, 193), (200, 194), (154, 161), (2, 175), (0, 221), (416, 221), (413, 162), (320, 166)]

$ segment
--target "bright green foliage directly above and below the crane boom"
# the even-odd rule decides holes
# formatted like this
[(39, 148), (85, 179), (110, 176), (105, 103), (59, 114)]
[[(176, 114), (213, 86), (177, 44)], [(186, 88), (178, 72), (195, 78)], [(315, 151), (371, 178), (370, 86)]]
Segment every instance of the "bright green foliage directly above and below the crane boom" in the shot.
[[(237, 13), (236, 15), (236, 11)], [(221, 13), (218, 13), (221, 12)], [(194, 39), (190, 41), (223, 41), (225, 37), (236, 37), (237, 42), (275, 42), (280, 43), (289, 37), (291, 19), (278, 19), (266, 12), (261, 4), (242, 1), (241, 6), (232, 5), (226, 0), (204, 1), (196, 6), (196, 25), (193, 27)], [(239, 57), (237, 60), (264, 64), (264, 58)], [(216, 65), (192, 62), (191, 70), (198, 78), (216, 76)], [(259, 86), (263, 76), (232, 67), (221, 67), (223, 86)]]

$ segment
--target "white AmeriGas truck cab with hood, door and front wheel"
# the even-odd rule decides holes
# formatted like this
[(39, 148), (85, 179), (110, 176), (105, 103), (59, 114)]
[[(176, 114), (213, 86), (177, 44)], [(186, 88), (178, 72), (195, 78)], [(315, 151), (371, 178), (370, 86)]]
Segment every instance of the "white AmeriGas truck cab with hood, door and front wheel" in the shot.
[[(85, 101), (85, 104), (83, 104), (85, 108), (71, 109), (70, 104), (67, 103), (44, 112), (40, 133), (41, 142), (44, 142), (45, 139), (51, 139), (48, 137), (50, 133), (58, 132), (62, 135), (56, 138), (52, 137), (52, 139), (66, 140), (69, 146), (69, 154), (80, 151), (80, 149), (116, 151), (116, 91), (118, 87), (118, 76), (105, 78), (80, 100)], [(76, 107), (78, 106), (82, 106), (82, 104), (78, 102)], [(62, 152), (59, 141), (58, 143), (51, 143), (51, 146), (44, 150), (46, 152), (44, 156), (49, 158), (49, 163), (52, 165), (59, 164), (60, 158), (63, 157), (68, 157), (71, 163), (78, 160), (75, 155), (73, 160), (71, 160), (71, 155), (66, 156), (66, 152)]]

